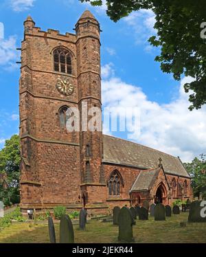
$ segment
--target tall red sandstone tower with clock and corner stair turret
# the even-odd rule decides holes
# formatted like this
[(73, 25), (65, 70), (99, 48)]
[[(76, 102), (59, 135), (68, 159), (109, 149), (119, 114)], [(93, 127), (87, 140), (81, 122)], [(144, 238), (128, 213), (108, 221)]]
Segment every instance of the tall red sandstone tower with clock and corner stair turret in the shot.
[[(21, 209), (106, 209), (102, 131), (87, 120), (101, 110), (100, 24), (85, 11), (76, 34), (43, 32), (30, 16), (21, 46)], [(68, 113), (80, 130), (68, 131)], [(89, 112), (85, 117), (82, 110)], [(71, 117), (71, 116), (70, 116)]]

